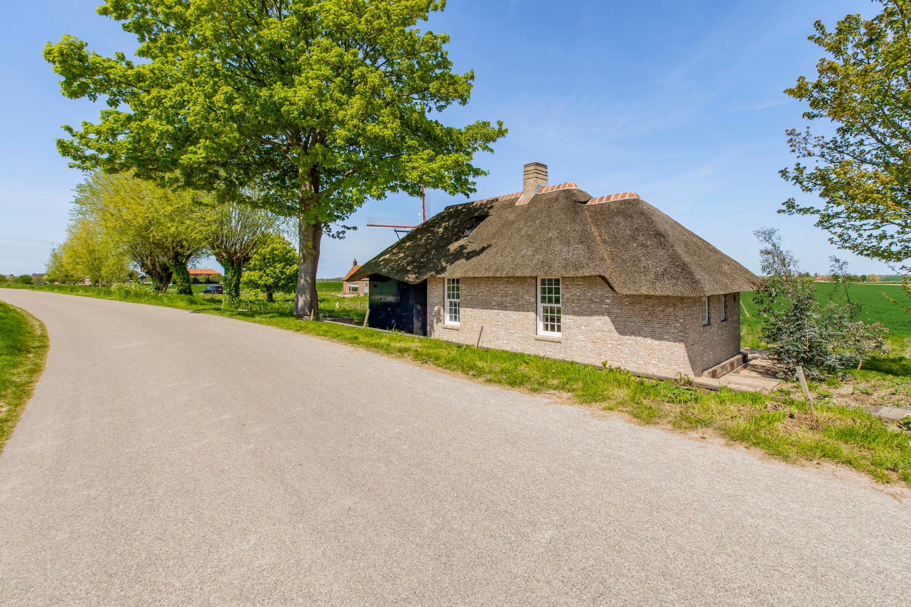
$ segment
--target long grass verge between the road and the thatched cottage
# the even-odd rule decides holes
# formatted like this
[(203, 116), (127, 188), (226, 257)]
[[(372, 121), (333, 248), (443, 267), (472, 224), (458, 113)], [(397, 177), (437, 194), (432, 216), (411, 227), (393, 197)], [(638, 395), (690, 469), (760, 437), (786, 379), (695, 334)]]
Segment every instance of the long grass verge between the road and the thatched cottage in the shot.
[[(828, 460), (861, 470), (877, 481), (903, 481), (911, 485), (911, 440), (908, 440), (907, 432), (896, 431), (894, 426), (864, 410), (825, 401), (817, 401), (816, 414), (812, 416), (804, 401), (788, 396), (729, 389), (713, 392), (675, 382), (639, 378), (622, 369), (596, 369), (576, 362), (505, 350), (476, 349), (442, 339), (302, 321), (288, 313), (288, 300), (246, 312), (220, 309), (217, 297), (170, 294), (117, 297), (107, 288), (38, 289), (191, 309), (333, 339), (480, 381), (553, 393), (581, 405), (622, 411), (646, 424), (688, 431), (711, 430), (783, 460)], [(355, 310), (359, 299), (365, 298), (326, 294), (321, 297), (322, 311), (334, 313), (336, 300), (340, 302), (340, 308), (344, 303), (348, 309)]]

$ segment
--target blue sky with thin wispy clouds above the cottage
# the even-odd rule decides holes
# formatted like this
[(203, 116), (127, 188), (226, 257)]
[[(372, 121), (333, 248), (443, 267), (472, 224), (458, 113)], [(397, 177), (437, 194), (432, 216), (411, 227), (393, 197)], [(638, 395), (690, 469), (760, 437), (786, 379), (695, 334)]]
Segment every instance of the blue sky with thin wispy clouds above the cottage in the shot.
[[(60, 125), (94, 119), (98, 106), (65, 99), (41, 49), (77, 35), (99, 53), (135, 40), (97, 0), (7, 5), (0, 25), (5, 116), (0, 147), (0, 272), (43, 271), (64, 237), (73, 187), (54, 139)], [(869, 0), (450, 0), (428, 27), (452, 37), (455, 68), (474, 69), (472, 102), (452, 123), (501, 119), (509, 134), (476, 158), (490, 173), (476, 197), (521, 189), (522, 165), (543, 162), (551, 183), (575, 181), (593, 196), (635, 190), (753, 271), (752, 230), (780, 228), (807, 270), (830, 255), (856, 273), (891, 273), (828, 244), (808, 218), (778, 215), (800, 196), (778, 177), (793, 163), (784, 130), (803, 126), (804, 107), (782, 90), (814, 74), (821, 56), (806, 40), (815, 19), (870, 15)], [(431, 193), (434, 210), (466, 198)], [(335, 277), (391, 244), (368, 217), (416, 219), (419, 201), (368, 202), (346, 223), (360, 229), (323, 243), (319, 275)], [(209, 264), (205, 264), (209, 265)]]

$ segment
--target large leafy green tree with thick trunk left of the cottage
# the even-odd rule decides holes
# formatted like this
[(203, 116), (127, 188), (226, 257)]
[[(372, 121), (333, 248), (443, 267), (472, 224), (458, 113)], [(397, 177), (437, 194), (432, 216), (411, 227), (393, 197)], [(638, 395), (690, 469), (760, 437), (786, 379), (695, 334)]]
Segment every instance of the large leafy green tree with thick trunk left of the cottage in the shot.
[(107, 0), (101, 15), (136, 35), (134, 61), (64, 36), (48, 44), (65, 96), (104, 99), (96, 123), (65, 126), (80, 168), (134, 171), (237, 195), (293, 217), (300, 241), (294, 311), (318, 307), (324, 233), (367, 198), (474, 191), (478, 151), (502, 123), (446, 126), (474, 74), (455, 74), (448, 36), (417, 25), (445, 0)]

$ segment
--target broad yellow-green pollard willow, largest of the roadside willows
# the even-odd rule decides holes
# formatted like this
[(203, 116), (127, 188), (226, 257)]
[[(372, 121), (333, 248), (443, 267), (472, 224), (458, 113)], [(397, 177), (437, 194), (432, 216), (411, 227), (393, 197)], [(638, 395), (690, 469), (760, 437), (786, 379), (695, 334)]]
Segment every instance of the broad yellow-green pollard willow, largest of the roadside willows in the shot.
[(76, 188), (76, 215), (91, 218), (124, 248), (155, 287), (192, 295), (187, 264), (205, 246), (213, 214), (207, 198), (127, 175), (90, 174)]

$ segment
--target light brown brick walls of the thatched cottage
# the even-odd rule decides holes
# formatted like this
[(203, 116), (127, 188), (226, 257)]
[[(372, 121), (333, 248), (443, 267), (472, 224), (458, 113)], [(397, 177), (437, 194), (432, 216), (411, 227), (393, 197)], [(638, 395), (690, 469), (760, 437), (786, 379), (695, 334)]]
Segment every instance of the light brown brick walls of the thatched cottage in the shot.
[(721, 321), (721, 299), (710, 298), (711, 323), (701, 325), (701, 298), (622, 296), (598, 277), (563, 278), (562, 335), (537, 335), (537, 280), (461, 278), (458, 327), (443, 319), (444, 279), (427, 279), (429, 334), (481, 346), (577, 360), (633, 371), (698, 377), (740, 351), (739, 298), (728, 297), (728, 319)]

